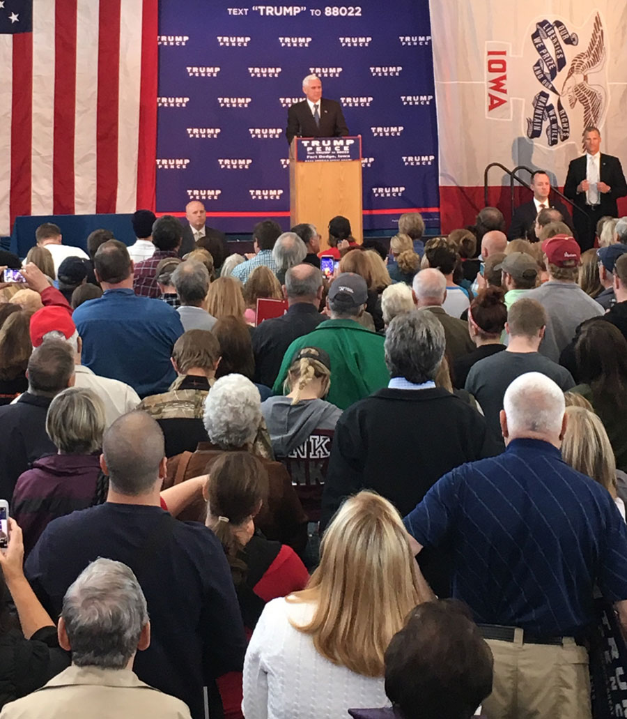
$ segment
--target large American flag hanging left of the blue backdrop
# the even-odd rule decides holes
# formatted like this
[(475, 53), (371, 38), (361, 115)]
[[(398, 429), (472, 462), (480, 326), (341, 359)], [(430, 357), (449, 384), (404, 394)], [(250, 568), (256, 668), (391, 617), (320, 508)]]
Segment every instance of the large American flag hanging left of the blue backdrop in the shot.
[(0, 235), (154, 207), (158, 0), (0, 0)]

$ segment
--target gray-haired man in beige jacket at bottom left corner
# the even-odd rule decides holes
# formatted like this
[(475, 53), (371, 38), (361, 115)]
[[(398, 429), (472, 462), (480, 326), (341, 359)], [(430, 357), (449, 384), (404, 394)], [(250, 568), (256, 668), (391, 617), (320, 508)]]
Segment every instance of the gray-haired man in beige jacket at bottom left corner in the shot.
[(96, 559), (83, 569), (65, 592), (58, 636), (72, 652), (72, 666), (6, 705), (2, 719), (190, 719), (181, 700), (132, 671), (136, 652), (150, 644), (150, 622), (144, 592), (126, 564)]

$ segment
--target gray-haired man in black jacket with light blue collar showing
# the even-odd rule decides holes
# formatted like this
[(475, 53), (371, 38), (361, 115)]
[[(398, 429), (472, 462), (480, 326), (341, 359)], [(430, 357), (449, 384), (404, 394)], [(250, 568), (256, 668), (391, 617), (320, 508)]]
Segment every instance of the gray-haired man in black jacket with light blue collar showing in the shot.
[[(445, 351), (436, 316), (415, 310), (396, 316), (384, 350), (389, 385), (350, 406), (335, 427), (321, 531), (343, 500), (360, 490), (376, 490), (407, 514), (453, 467), (502, 449), (478, 411), (435, 386)], [(427, 562), (422, 569), (436, 594), (446, 596), (442, 564)]]

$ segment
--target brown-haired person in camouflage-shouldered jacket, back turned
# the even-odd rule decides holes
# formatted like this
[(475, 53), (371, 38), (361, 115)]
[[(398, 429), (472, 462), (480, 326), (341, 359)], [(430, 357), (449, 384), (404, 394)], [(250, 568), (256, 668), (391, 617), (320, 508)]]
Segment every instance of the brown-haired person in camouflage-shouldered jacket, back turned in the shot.
[(193, 452), (198, 442), (208, 440), (203, 405), (219, 364), (220, 343), (215, 336), (206, 329), (190, 329), (172, 349), (177, 379), (167, 392), (141, 400), (137, 409), (149, 413), (162, 429), (166, 457)]

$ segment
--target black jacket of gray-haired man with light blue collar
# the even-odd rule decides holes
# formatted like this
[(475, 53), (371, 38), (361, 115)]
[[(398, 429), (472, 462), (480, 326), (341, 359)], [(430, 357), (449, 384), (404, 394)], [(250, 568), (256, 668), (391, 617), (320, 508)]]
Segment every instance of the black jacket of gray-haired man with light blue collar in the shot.
[[(346, 409), (335, 426), (320, 531), (359, 490), (375, 490), (405, 516), (442, 475), (502, 451), (478, 411), (447, 390), (378, 390)], [(419, 555), (440, 596), (448, 594), (447, 557), (447, 548)]]

